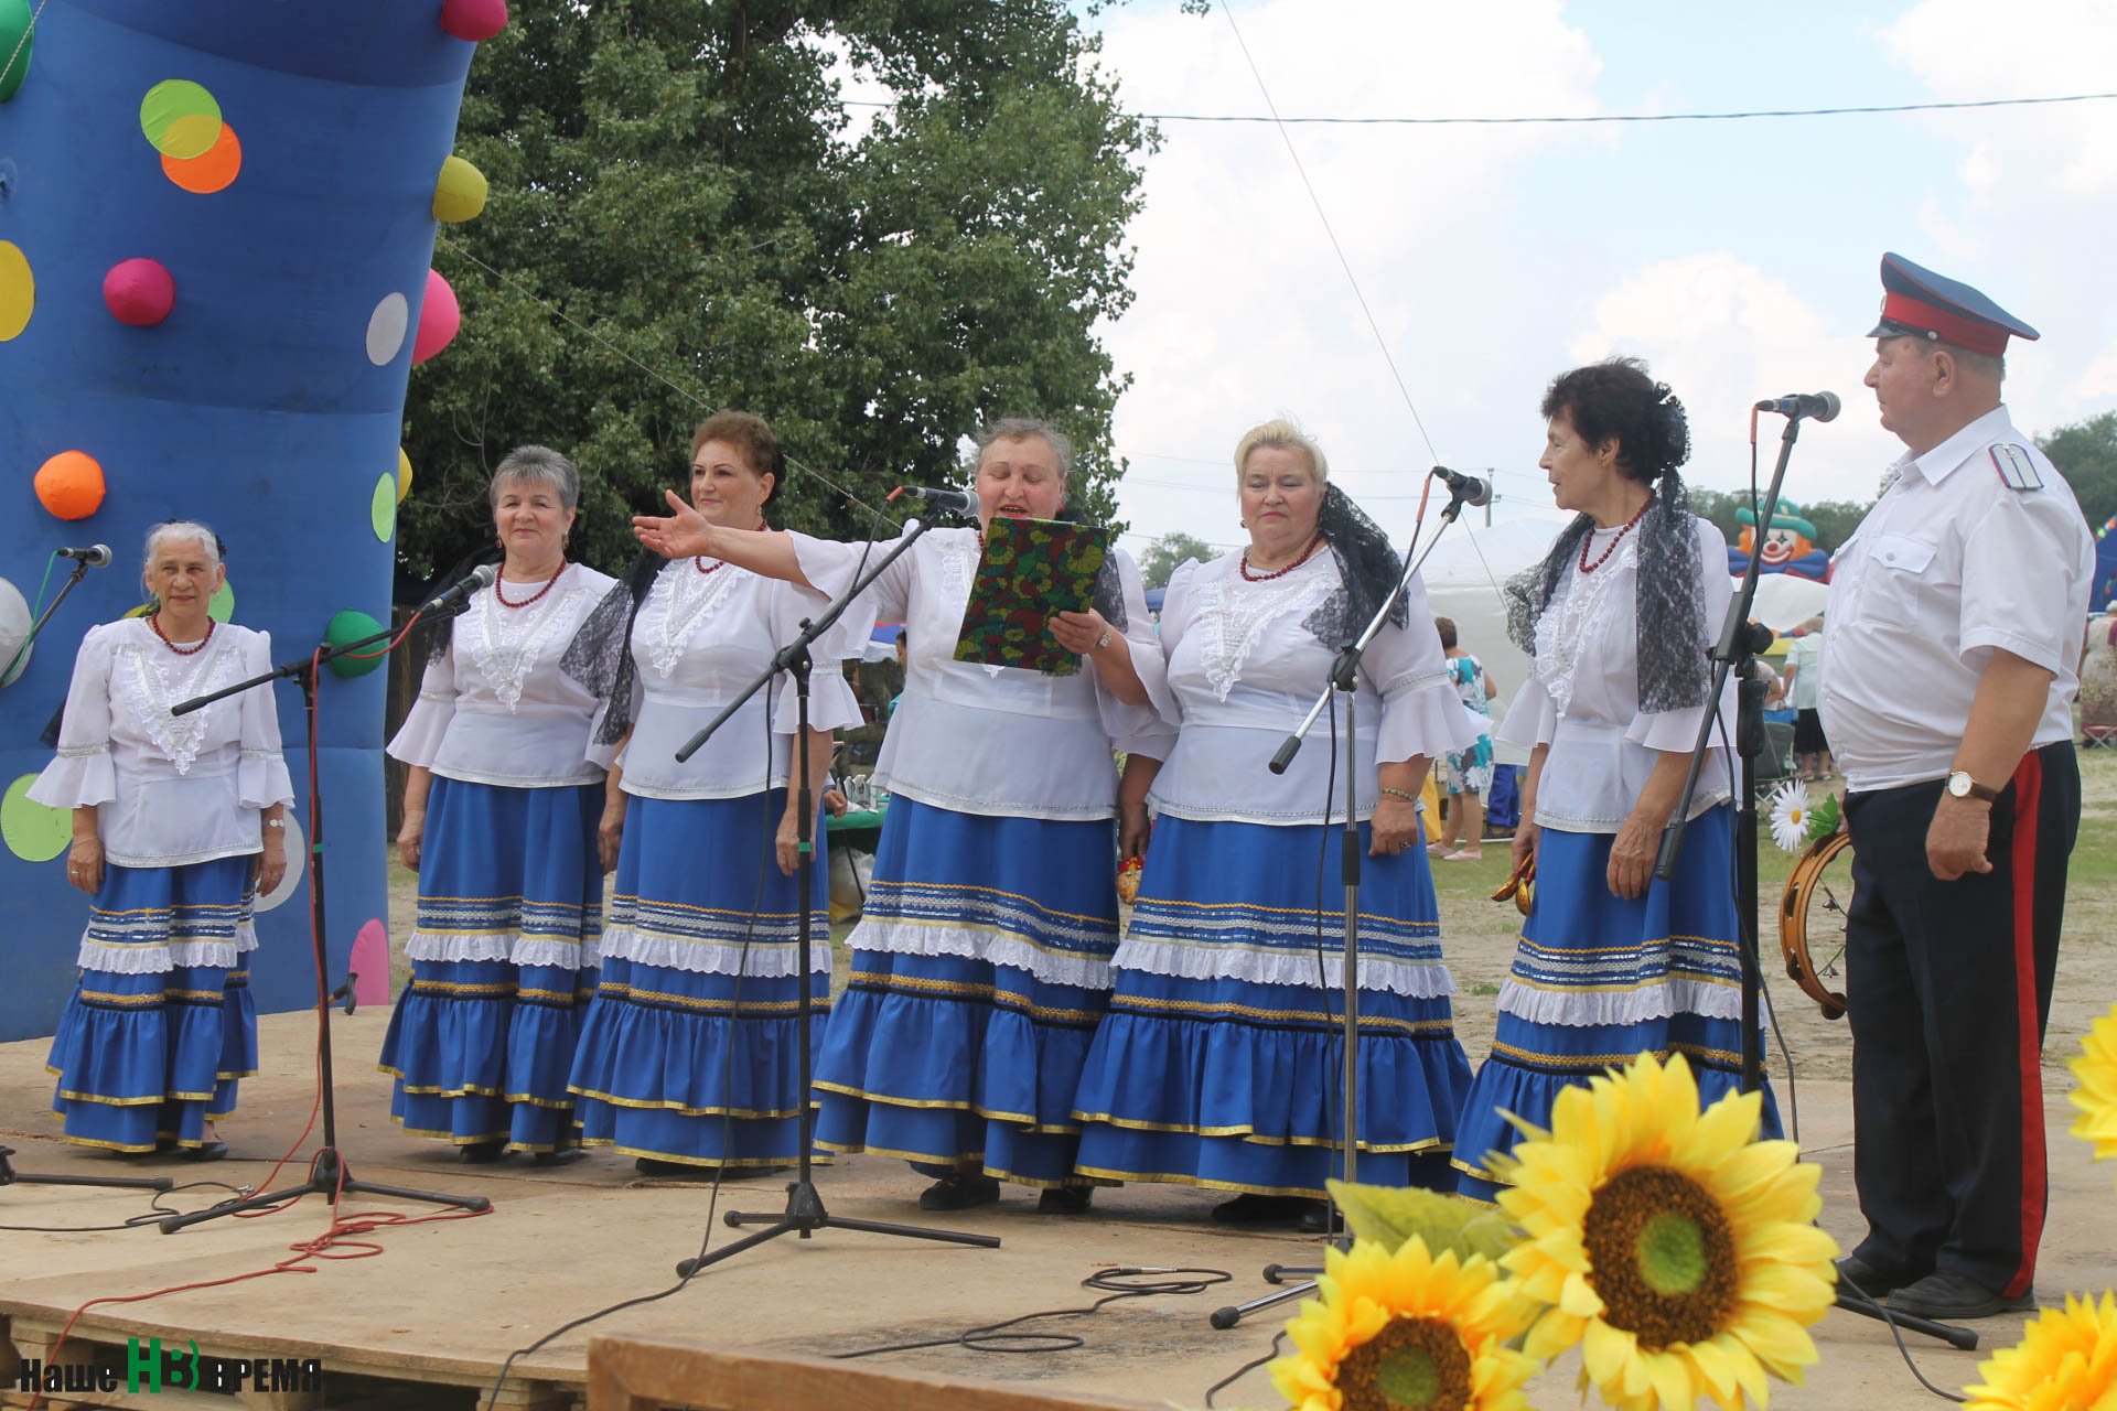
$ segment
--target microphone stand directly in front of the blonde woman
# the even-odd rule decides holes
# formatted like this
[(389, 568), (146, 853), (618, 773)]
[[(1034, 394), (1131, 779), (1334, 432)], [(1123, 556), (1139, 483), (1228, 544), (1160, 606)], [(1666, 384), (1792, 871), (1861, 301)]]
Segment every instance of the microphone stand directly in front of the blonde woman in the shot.
[[(1450, 495), (1448, 495), (1448, 508), (1442, 510), (1440, 527), (1433, 531), (1433, 537), (1427, 542), (1425, 552), (1421, 552), (1416, 561), (1410, 556), (1410, 552), (1406, 552), (1406, 556), (1404, 556), (1404, 573), (1397, 575), (1397, 582), (1389, 590), (1389, 597), (1382, 599), (1382, 607), (1374, 613), (1374, 620), (1368, 622), (1368, 628), (1359, 635), (1359, 639), (1346, 643), (1344, 649), (1338, 652), (1338, 660), (1334, 660), (1332, 668), (1329, 668), (1329, 683), (1317, 696), (1317, 702), (1313, 707), (1308, 707), (1308, 715), (1302, 719), (1302, 723), (1279, 747), (1279, 753), (1272, 755), (1270, 766), (1266, 766), (1274, 774), (1285, 774), (1287, 766), (1293, 764), (1293, 755), (1300, 753), (1302, 738), (1308, 734), (1308, 728), (1315, 726), (1317, 717), (1323, 713), (1323, 707), (1329, 704), (1329, 700), (1332, 700), (1334, 694), (1342, 694), (1344, 696), (1344, 734), (1346, 734), (1346, 740), (1351, 740), (1351, 745), (1346, 749), (1346, 770), (1344, 770), (1344, 836), (1342, 836), (1340, 848), (1338, 848), (1338, 872), (1340, 872), (1340, 880), (1344, 882), (1344, 1079), (1342, 1079), (1342, 1083), (1344, 1083), (1344, 1128), (1338, 1134), (1338, 1163), (1342, 1168), (1342, 1178), (1344, 1180), (1355, 1180), (1353, 1172), (1357, 1170), (1357, 1163), (1359, 1163), (1359, 867), (1361, 867), (1359, 859), (1361, 859), (1361, 850), (1359, 850), (1359, 819), (1355, 817), (1355, 798), (1357, 798), (1357, 789), (1359, 789), (1359, 783), (1357, 783), (1357, 774), (1359, 774), (1359, 768), (1357, 768), (1357, 764), (1359, 764), (1359, 734), (1355, 732), (1355, 721), (1353, 721), (1353, 707), (1359, 700), (1359, 679), (1357, 679), (1357, 675), (1359, 675), (1359, 658), (1368, 652), (1368, 643), (1374, 641), (1374, 635), (1380, 633), (1382, 626), (1389, 622), (1391, 609), (1397, 605), (1397, 599), (1404, 597), (1404, 586), (1408, 582), (1412, 582), (1412, 575), (1418, 573), (1418, 569), (1425, 565), (1427, 554), (1431, 554), (1433, 546), (1442, 542), (1442, 531), (1446, 531), (1448, 525), (1452, 525), (1456, 520), (1456, 516), (1463, 512), (1463, 506), (1469, 501), (1469, 495), (1471, 495), (1469, 487), (1461, 487), (1461, 489), (1452, 489), (1450, 491)], [(1412, 539), (1412, 548), (1416, 548), (1416, 537)], [(1336, 1202), (1332, 1202), (1327, 1206), (1327, 1210), (1329, 1210), (1327, 1225), (1329, 1225), (1332, 1231), (1338, 1231), (1342, 1227), (1342, 1216), (1338, 1212)], [(1332, 1235), (1332, 1240), (1342, 1240), (1342, 1235)], [(1279, 1303), (1287, 1303), (1289, 1299), (1300, 1299), (1300, 1297), (1304, 1297), (1304, 1295), (1308, 1295), (1308, 1293), (1315, 1290), (1315, 1276), (1317, 1273), (1321, 1273), (1321, 1269), (1287, 1269), (1285, 1265), (1264, 1265), (1264, 1282), (1266, 1284), (1279, 1284), (1287, 1276), (1300, 1278), (1302, 1282), (1293, 1284), (1291, 1288), (1281, 1288), (1279, 1293), (1268, 1293), (1262, 1299), (1251, 1299), (1249, 1303), (1232, 1303), (1228, 1307), (1215, 1307), (1213, 1314), (1211, 1314), (1211, 1318), (1209, 1318), (1209, 1322), (1215, 1328), (1226, 1331), (1226, 1328), (1232, 1328), (1234, 1324), (1238, 1324), (1249, 1314), (1262, 1312), (1266, 1307), (1274, 1307)]]

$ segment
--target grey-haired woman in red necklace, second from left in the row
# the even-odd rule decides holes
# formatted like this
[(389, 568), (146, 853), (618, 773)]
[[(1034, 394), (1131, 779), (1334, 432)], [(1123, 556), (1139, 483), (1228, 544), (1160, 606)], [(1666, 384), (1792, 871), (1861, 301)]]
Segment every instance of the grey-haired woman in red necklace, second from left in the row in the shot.
[(419, 872), (419, 924), (381, 1068), (392, 1119), (466, 1161), (578, 1151), (565, 1079), (603, 916), (603, 770), (586, 757), (599, 690), (569, 647), (614, 586), (565, 556), (578, 499), (557, 451), (500, 461), (500, 578), (434, 635), (390, 740), (411, 766), (398, 853)]

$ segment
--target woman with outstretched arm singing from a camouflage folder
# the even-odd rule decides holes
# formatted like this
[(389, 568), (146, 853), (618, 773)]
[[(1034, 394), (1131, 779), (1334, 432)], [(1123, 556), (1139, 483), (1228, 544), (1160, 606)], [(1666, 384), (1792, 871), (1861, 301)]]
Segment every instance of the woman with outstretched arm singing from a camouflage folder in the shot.
[[(1065, 506), (1069, 446), (1042, 421), (995, 423), (978, 448), (978, 529), (938, 529), (870, 590), (864, 618), (906, 624), (904, 698), (874, 778), (891, 791), (853, 965), (817, 1066), (817, 1142), (912, 1161), (925, 1210), (1039, 1189), (1084, 1210), (1073, 1085), (1109, 1001), (1118, 946), (1111, 740), (1152, 726), (1160, 649), (1133, 561), (1111, 550), (1094, 607), (1050, 618), (1073, 675), (957, 662), (995, 516)], [(866, 544), (720, 529), (669, 497), (633, 520), (656, 552), (728, 558), (847, 588)], [(883, 550), (874, 548), (872, 558)]]

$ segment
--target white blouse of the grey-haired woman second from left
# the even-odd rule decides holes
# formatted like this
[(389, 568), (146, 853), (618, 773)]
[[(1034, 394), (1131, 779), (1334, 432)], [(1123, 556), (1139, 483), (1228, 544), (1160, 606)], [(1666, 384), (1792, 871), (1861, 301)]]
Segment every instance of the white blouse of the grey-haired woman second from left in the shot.
[[(546, 580), (550, 582), (550, 580)], [(559, 671), (574, 633), (616, 584), (584, 563), (569, 563), (542, 599), (521, 603), (542, 584), (495, 582), (472, 594), (449, 624), (449, 645), (428, 664), (390, 757), (442, 778), (514, 789), (591, 785), (603, 766), (589, 759), (589, 728), (601, 704)]]

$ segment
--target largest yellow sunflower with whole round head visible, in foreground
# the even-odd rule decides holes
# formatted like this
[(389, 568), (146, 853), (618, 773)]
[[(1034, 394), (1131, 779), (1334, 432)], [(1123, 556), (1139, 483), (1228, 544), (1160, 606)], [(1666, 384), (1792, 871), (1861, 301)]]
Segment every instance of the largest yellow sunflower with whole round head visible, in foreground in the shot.
[(1838, 1244), (1816, 1229), (1819, 1168), (1759, 1142), (1763, 1098), (1698, 1111), (1681, 1053), (1569, 1087), (1524, 1140), (1499, 1204), (1526, 1231), (1501, 1263), (1541, 1307), (1526, 1352), (1581, 1345), (1581, 1386), (1620, 1411), (1763, 1407), (1799, 1383), (1831, 1307)]

